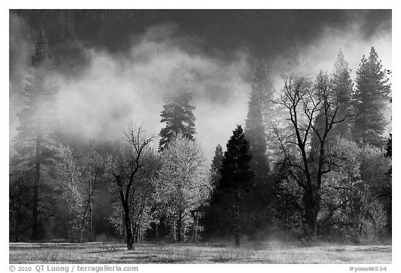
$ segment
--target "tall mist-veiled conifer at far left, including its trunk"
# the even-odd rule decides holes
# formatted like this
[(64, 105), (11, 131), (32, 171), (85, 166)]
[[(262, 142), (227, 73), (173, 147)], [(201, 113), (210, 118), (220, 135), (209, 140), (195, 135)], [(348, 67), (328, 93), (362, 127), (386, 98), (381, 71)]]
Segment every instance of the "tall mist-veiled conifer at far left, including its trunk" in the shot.
[(40, 225), (40, 185), (44, 171), (54, 166), (58, 151), (55, 133), (58, 125), (56, 115), (56, 67), (50, 52), (45, 31), (40, 31), (32, 56), (32, 68), (26, 78), (23, 92), (25, 108), (19, 113), (19, 126), (15, 138), (14, 167), (33, 169), (32, 234), (31, 239), (39, 237)]

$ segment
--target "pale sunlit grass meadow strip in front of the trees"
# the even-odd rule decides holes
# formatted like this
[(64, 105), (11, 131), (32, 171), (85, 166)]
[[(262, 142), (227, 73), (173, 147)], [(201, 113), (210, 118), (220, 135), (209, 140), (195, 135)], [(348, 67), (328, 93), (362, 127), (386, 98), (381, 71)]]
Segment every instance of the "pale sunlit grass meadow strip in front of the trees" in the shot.
[(391, 263), (391, 246), (10, 243), (10, 263)]

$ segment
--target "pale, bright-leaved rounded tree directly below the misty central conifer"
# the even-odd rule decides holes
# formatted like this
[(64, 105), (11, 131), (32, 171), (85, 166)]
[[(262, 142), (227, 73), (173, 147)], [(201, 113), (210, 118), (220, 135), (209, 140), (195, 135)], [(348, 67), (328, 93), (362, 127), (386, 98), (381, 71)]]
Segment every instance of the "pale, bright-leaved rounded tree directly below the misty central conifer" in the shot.
[[(173, 240), (184, 240), (193, 224), (191, 213), (205, 204), (212, 185), (203, 151), (197, 142), (177, 135), (162, 151), (156, 199), (170, 220)], [(198, 227), (196, 226), (196, 231)]]

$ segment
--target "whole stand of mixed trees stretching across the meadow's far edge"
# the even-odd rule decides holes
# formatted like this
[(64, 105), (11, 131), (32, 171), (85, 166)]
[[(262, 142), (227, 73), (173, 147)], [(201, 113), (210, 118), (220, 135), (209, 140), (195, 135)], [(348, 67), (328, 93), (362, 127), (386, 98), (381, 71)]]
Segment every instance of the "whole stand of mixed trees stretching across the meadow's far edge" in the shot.
[(58, 115), (59, 58), (46, 29), (36, 35), (10, 139), (10, 242), (391, 244), (391, 70), (375, 47), (352, 77), (341, 49), (313, 74), (294, 45), (279, 89), (257, 58), (246, 116), (212, 143), (210, 164), (186, 63), (170, 70), (161, 111), (146, 112), (160, 131), (132, 119), (113, 140), (77, 144)]

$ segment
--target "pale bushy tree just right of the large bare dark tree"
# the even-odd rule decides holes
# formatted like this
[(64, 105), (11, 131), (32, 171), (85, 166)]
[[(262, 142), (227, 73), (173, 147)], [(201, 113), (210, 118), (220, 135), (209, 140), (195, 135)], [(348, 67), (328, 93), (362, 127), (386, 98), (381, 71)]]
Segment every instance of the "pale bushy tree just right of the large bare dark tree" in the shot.
[(379, 197), (391, 162), (382, 149), (345, 138), (336, 143), (337, 167), (324, 177), (322, 188), (321, 229), (331, 235), (340, 231), (337, 235), (356, 242), (380, 238), (388, 217)]

